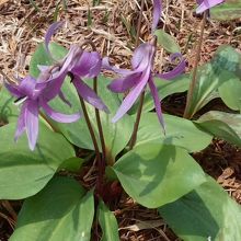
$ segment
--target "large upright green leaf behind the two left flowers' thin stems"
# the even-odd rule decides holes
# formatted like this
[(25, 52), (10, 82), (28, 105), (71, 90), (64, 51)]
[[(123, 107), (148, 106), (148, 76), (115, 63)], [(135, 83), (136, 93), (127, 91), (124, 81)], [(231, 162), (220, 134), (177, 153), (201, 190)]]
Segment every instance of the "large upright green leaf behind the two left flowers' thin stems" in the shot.
[[(59, 57), (65, 56), (67, 50), (62, 47), (59, 47), (59, 45), (54, 44), (54, 45), (50, 45), (50, 51), (53, 53), (54, 57), (58, 59)], [(49, 58), (45, 51), (43, 44), (38, 46), (38, 48), (36, 49), (35, 54), (32, 57), (31, 73), (34, 74), (35, 77), (39, 73), (39, 71), (37, 70), (37, 65), (50, 65)], [(92, 87), (92, 80), (87, 80), (85, 82)], [(107, 90), (106, 85), (110, 82), (111, 82), (110, 79), (106, 79), (103, 76), (99, 77), (99, 82), (97, 82), (99, 83), (99, 95), (102, 97), (102, 100), (108, 106), (112, 113), (107, 115), (101, 112), (101, 120), (102, 120), (103, 131), (105, 136), (106, 149), (107, 149), (107, 152), (112, 157), (115, 157), (119, 151), (122, 151), (125, 148), (125, 146), (130, 139), (131, 129), (133, 129), (131, 127), (133, 118), (126, 115), (118, 123), (116, 124), (112, 123), (111, 119), (116, 113), (117, 108), (119, 107), (120, 102), (119, 102), (117, 94), (114, 94)], [(68, 79), (65, 81), (62, 91), (65, 92), (66, 97), (72, 104), (72, 108), (66, 105), (58, 97), (56, 97), (51, 102), (51, 106), (55, 110), (59, 110), (60, 112), (67, 113), (67, 114), (78, 112), (80, 110), (79, 97), (77, 95), (77, 92), (73, 85), (70, 83)], [(92, 122), (94, 131), (96, 134), (95, 136), (99, 136), (94, 108), (93, 106), (90, 106), (89, 104), (87, 104), (87, 107), (88, 107), (88, 113)], [(87, 127), (87, 124), (83, 117), (79, 122), (71, 123), (71, 124), (54, 123), (53, 120), (51, 123), (73, 145), (80, 148), (93, 150), (92, 140), (91, 140), (91, 137), (90, 137), (90, 134), (89, 134), (89, 130), (88, 130), (88, 127)], [(99, 140), (99, 146), (100, 146), (100, 140)]]

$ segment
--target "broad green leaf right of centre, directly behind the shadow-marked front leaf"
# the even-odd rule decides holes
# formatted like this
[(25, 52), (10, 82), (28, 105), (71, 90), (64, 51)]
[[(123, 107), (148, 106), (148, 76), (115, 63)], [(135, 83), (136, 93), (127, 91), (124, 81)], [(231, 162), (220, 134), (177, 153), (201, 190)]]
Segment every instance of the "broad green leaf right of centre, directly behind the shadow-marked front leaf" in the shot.
[(173, 115), (163, 115), (163, 118), (165, 135), (156, 113), (144, 114), (137, 134), (136, 146), (165, 144), (182, 147), (188, 152), (195, 152), (203, 150), (211, 142), (213, 136), (199, 130), (191, 120)]

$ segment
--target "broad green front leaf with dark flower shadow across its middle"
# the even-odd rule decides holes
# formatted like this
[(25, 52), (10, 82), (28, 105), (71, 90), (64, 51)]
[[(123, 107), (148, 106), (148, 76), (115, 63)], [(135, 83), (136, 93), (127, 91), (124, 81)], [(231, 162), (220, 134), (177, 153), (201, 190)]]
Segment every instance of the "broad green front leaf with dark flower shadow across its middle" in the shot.
[(206, 181), (184, 149), (160, 144), (136, 147), (113, 169), (126, 193), (148, 208), (174, 202)]

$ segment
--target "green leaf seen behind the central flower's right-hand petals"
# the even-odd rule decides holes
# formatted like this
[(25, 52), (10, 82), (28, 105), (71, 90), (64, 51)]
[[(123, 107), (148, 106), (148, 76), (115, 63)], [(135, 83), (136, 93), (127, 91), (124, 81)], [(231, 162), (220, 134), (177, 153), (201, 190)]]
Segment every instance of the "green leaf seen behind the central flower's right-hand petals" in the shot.
[[(174, 93), (182, 93), (188, 90), (190, 87), (190, 74), (182, 74), (180, 77), (176, 77), (173, 80), (162, 80), (159, 78), (154, 78), (154, 84), (158, 88), (158, 93), (160, 100), (163, 100), (164, 97), (174, 94)], [(153, 104), (153, 97), (149, 91), (149, 89), (146, 90), (145, 101), (144, 101), (144, 107), (142, 112), (149, 112), (154, 108)], [(138, 103), (136, 103), (131, 110), (129, 111), (129, 114), (135, 114), (138, 110)]]

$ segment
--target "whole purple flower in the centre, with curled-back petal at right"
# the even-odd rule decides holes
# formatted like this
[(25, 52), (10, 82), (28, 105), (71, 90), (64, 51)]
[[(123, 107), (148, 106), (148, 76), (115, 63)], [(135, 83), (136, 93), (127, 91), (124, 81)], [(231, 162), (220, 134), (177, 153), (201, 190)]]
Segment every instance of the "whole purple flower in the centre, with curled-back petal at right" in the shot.
[[(124, 99), (116, 115), (113, 117), (114, 123), (122, 118), (128, 112), (128, 110), (134, 105), (138, 96), (141, 94), (141, 92), (148, 84), (150, 88), (151, 95), (153, 97), (158, 118), (162, 127), (164, 128), (160, 100), (158, 96), (158, 90), (154, 85), (153, 78), (159, 77), (163, 79), (172, 79), (181, 74), (185, 69), (185, 61), (182, 59), (179, 66), (170, 72), (153, 73), (152, 69), (154, 53), (156, 47), (153, 45), (148, 43), (141, 44), (134, 53), (131, 59), (133, 70), (118, 69), (116, 67), (112, 67), (110, 66), (107, 58), (103, 59), (103, 67), (105, 69), (113, 70), (123, 76), (122, 78), (113, 80), (113, 82), (108, 85), (110, 90), (116, 93), (124, 93), (130, 90), (127, 96)], [(172, 60), (174, 60), (177, 57), (181, 57), (181, 54), (174, 54), (172, 56)]]

